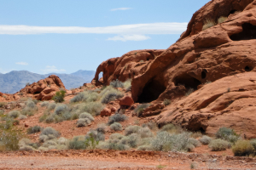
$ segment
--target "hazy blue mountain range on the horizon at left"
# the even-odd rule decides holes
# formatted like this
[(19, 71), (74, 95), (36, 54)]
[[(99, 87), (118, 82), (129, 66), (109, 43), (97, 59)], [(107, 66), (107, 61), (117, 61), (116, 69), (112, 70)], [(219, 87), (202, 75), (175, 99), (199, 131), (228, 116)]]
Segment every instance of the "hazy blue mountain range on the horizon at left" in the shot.
[(9, 73), (0, 73), (0, 92), (15, 94), (21, 88), (26, 86), (26, 82), (38, 82), (41, 79), (56, 75), (61, 78), (67, 89), (79, 88), (84, 82), (91, 82), (95, 76), (95, 71), (76, 71), (71, 74), (49, 73), (40, 75), (30, 71), (10, 71)]

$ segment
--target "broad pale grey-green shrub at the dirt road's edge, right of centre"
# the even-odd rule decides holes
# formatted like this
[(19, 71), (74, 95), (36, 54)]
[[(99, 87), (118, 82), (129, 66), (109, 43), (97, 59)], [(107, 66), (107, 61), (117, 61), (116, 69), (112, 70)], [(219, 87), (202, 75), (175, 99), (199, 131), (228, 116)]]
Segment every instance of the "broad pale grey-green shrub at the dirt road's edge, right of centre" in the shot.
[(157, 133), (151, 142), (152, 150), (156, 151), (191, 151), (195, 148), (189, 142), (190, 133), (171, 134), (166, 131)]

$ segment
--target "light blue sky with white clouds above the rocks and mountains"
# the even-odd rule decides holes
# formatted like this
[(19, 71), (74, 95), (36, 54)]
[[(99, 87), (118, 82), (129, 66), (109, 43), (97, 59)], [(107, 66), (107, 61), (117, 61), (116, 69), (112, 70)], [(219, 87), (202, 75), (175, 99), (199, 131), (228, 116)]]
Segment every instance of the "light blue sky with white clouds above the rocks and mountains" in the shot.
[(209, 0), (0, 0), (0, 72), (96, 71), (136, 49), (165, 49)]

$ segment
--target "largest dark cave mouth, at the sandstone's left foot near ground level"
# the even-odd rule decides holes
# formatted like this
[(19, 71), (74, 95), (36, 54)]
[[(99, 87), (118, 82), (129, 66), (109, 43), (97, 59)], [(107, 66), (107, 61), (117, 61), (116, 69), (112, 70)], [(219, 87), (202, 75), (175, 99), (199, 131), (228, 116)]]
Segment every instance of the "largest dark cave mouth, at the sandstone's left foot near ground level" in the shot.
[(158, 99), (160, 94), (166, 90), (164, 84), (158, 80), (151, 80), (143, 88), (143, 93), (139, 95), (138, 103), (149, 103)]

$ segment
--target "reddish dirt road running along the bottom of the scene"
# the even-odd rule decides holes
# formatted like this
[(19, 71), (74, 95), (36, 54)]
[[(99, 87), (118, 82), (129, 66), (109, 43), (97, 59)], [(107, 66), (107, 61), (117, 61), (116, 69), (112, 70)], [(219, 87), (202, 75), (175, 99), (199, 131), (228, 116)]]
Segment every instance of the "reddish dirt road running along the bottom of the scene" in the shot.
[(0, 169), (256, 169), (256, 159), (179, 152), (51, 150), (0, 153)]

